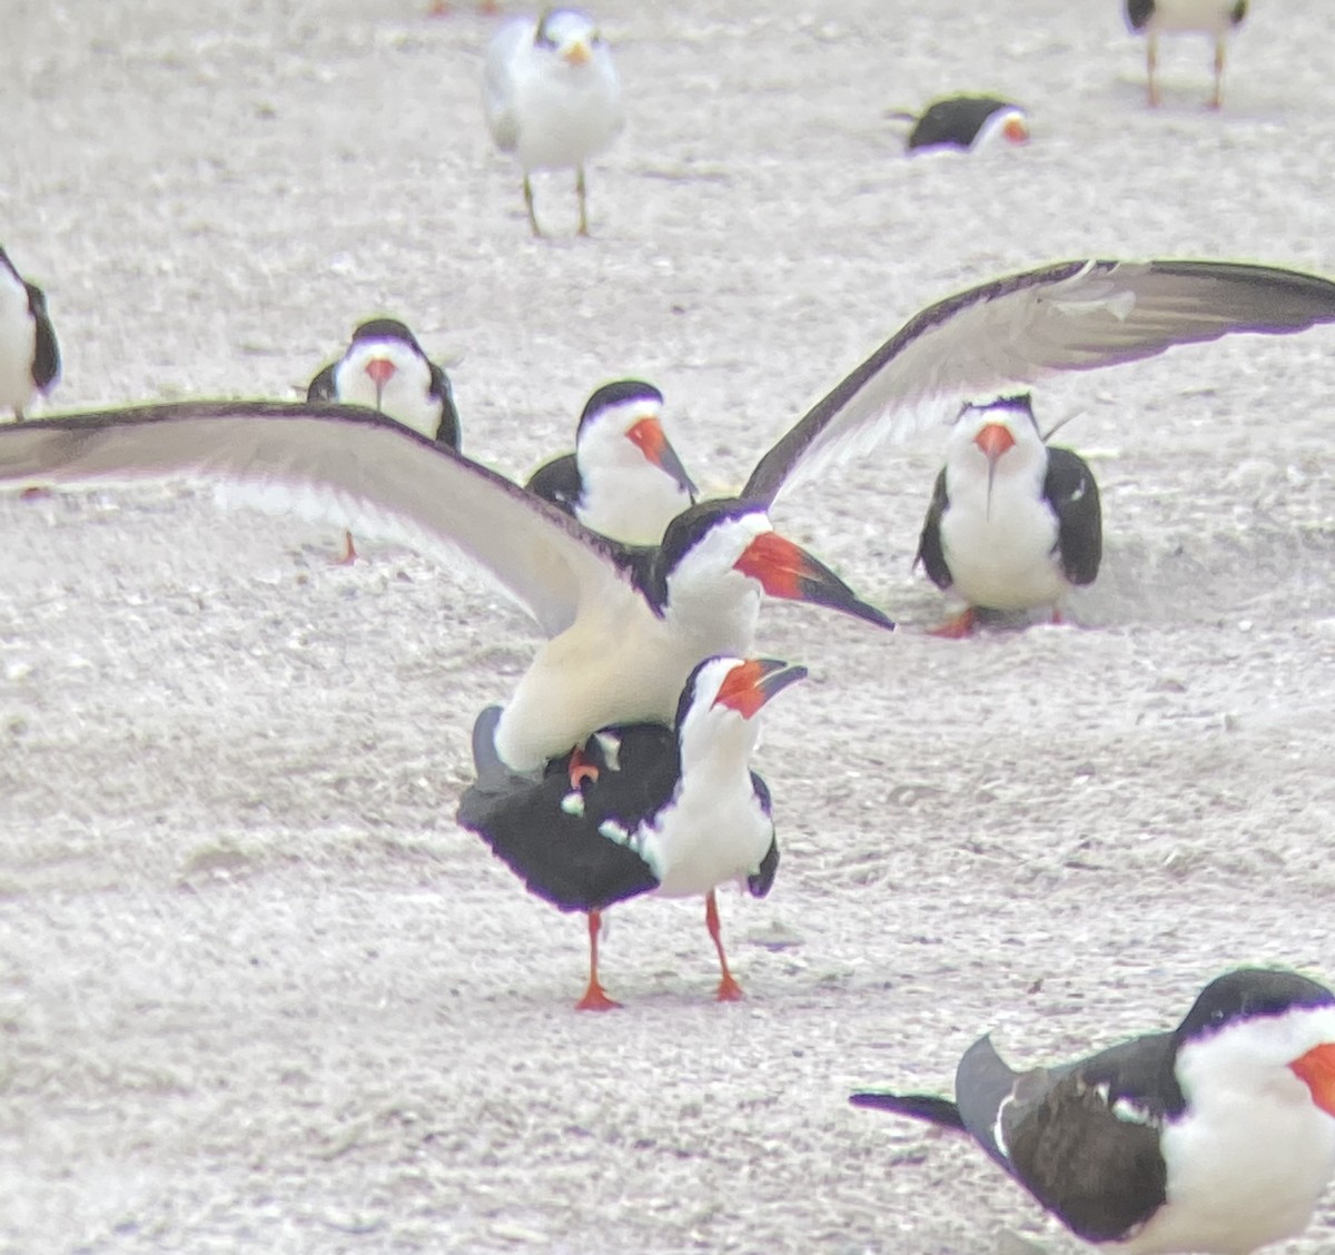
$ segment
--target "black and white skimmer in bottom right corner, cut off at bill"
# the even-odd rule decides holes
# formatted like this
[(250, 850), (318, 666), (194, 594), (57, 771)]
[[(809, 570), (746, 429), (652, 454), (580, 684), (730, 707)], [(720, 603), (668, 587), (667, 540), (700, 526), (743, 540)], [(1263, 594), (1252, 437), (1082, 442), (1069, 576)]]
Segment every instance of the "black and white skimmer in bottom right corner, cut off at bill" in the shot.
[(1172, 1032), (1028, 1072), (983, 1037), (953, 1101), (852, 1101), (968, 1134), (1087, 1242), (1250, 1255), (1302, 1231), (1335, 1171), (1335, 995), (1244, 968)]

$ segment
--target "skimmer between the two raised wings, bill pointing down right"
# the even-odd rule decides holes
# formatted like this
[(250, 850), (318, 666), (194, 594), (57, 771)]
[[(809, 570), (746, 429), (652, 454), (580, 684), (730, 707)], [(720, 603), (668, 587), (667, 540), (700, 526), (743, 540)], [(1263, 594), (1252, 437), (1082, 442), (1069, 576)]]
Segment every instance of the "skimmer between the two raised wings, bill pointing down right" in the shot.
[(662, 405), (650, 383), (603, 385), (579, 415), (575, 451), (539, 466), (529, 491), (623, 545), (657, 545), (696, 503), (696, 485), (663, 433)]

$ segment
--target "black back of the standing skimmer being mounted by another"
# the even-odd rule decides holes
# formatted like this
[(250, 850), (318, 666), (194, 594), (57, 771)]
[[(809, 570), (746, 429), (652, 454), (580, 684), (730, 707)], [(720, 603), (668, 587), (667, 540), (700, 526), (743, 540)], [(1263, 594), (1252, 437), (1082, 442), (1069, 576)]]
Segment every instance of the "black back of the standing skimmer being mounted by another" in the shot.
[(605, 729), (619, 741), (611, 769), (598, 736), (583, 746), (599, 768), (581, 786), (582, 808), (562, 806), (570, 788), (570, 756), (553, 758), (543, 778), (511, 778), (499, 792), (479, 785), (459, 798), (461, 826), (475, 832), (523, 880), (530, 893), (562, 911), (597, 911), (658, 885), (649, 864), (630, 845), (599, 832), (613, 821), (634, 832), (672, 798), (681, 774), (677, 737), (662, 724)]

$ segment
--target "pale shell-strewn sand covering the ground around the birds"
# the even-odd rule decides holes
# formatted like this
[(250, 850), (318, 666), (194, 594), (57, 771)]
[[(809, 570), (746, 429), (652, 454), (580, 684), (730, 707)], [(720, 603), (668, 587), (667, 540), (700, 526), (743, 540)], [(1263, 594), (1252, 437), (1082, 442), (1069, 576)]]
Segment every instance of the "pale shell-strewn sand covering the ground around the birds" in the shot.
[[(712, 487), (921, 304), (1080, 255), (1335, 274), (1328, 0), (1259, 4), (1222, 116), (1113, 0), (602, 7), (630, 130), (594, 238), (530, 240), (477, 101), (490, 23), (417, 0), (7, 0), (0, 242), (53, 407), (291, 397), (376, 311), (514, 474), (643, 375)], [(1027, 101), (1027, 151), (881, 113)], [(539, 214), (574, 226), (569, 179)], [(533, 633), (473, 579), (206, 494), (0, 501), (0, 1251), (992, 1252), (1057, 1236), (959, 1139), (853, 1111), (1175, 1021), (1243, 961), (1335, 979), (1335, 332), (1045, 387), (1093, 461), (1081, 626), (926, 638), (939, 443), (777, 522), (901, 617), (766, 611), (784, 861), (585, 935), (453, 822)], [(785, 949), (765, 943), (788, 936)], [(1283, 1250), (1335, 1251), (1335, 1194)]]

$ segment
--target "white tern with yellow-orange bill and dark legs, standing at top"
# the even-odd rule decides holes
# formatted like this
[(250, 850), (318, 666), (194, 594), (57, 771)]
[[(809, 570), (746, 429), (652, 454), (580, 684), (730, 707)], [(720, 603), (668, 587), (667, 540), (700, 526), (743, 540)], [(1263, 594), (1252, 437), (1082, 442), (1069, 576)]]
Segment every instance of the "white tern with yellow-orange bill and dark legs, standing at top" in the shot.
[(487, 45), (482, 108), (491, 139), (523, 171), (529, 226), (542, 235), (533, 208), (534, 170), (574, 170), (579, 234), (589, 234), (585, 164), (621, 134), (625, 109), (611, 49), (578, 9), (549, 8), (534, 21), (503, 25)]

